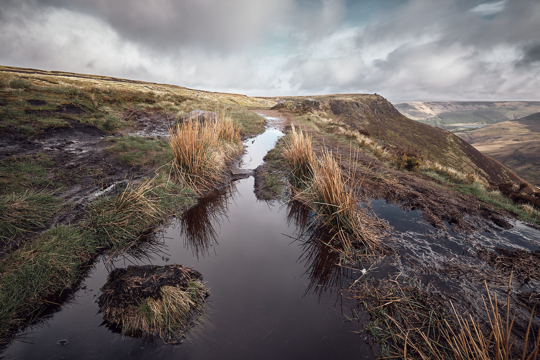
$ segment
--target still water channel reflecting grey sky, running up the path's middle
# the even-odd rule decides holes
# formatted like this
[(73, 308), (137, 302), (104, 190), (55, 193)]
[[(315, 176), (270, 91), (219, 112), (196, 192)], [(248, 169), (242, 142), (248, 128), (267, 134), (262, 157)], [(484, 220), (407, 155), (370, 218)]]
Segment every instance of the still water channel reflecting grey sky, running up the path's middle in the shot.
[[(271, 120), (271, 119), (269, 119)], [(276, 128), (246, 141), (241, 164), (256, 168), (283, 135)], [(357, 317), (339, 291), (350, 281), (320, 242), (294, 241), (294, 209), (261, 202), (253, 177), (231, 182), (141, 245), (102, 259), (73, 300), (3, 354), (10, 359), (372, 358), (355, 332)], [(293, 215), (291, 215), (293, 214)], [(178, 263), (204, 274), (211, 296), (184, 343), (161, 346), (107, 329), (96, 298), (112, 267)], [(352, 271), (352, 270), (350, 270)], [(321, 275), (322, 274), (322, 275)], [(356, 279), (355, 277), (355, 279)], [(354, 279), (353, 279), (354, 280)], [(330, 283), (332, 282), (332, 283)]]

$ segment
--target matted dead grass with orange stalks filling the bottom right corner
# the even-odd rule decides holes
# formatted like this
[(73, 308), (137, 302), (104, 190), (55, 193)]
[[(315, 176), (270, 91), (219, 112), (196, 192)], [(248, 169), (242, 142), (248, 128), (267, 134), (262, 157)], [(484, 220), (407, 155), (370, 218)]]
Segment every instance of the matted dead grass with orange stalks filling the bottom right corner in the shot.
[(528, 325), (517, 318), (523, 312), (516, 307), (511, 314), (511, 274), (505, 302), (484, 282), (485, 320), (458, 314), (452, 302), (445, 306), (414, 282), (400, 283), (399, 276), (365, 281), (350, 291), (370, 315), (366, 330), (381, 345), (380, 359), (536, 359), (540, 328), (535, 334), (535, 309), (528, 312)]

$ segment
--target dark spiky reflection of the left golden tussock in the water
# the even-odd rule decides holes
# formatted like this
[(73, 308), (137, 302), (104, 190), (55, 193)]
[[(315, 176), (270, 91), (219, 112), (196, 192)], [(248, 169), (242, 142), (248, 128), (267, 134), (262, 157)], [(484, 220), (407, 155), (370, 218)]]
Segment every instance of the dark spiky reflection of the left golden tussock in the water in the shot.
[(179, 220), (180, 235), (184, 239), (184, 247), (191, 248), (193, 256), (204, 257), (208, 249), (218, 243), (215, 227), (227, 218), (228, 206), (237, 194), (235, 182), (222, 189), (211, 192), (199, 203), (187, 210)]

